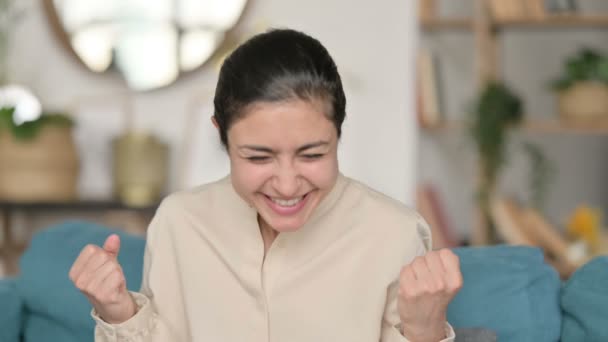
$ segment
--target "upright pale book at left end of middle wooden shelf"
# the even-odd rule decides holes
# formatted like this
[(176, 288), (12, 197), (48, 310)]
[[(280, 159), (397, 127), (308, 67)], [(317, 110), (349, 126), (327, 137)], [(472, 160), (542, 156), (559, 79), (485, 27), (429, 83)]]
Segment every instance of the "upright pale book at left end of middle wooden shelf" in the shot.
[(441, 121), (438, 60), (429, 49), (420, 49), (416, 60), (416, 112), (421, 127), (437, 127)]

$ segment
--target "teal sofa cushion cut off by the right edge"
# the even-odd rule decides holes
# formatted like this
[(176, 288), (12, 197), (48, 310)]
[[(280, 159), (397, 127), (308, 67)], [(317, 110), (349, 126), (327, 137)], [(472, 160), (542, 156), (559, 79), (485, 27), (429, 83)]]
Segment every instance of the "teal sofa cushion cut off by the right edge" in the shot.
[(562, 341), (608, 341), (608, 256), (576, 270), (564, 285)]

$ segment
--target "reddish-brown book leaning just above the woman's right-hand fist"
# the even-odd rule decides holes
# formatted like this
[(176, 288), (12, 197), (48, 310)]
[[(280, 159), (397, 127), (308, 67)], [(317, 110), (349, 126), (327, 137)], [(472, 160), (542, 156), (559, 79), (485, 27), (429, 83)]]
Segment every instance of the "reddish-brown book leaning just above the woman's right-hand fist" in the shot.
[(460, 245), (434, 186), (431, 184), (418, 185), (416, 206), (431, 228), (433, 249), (453, 248)]

